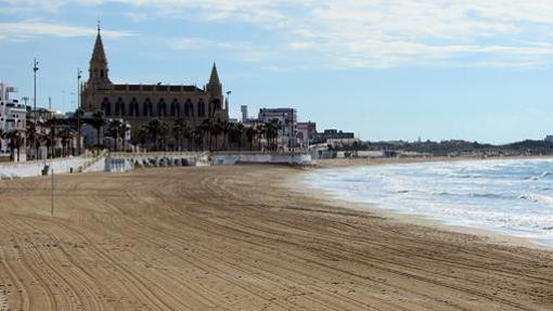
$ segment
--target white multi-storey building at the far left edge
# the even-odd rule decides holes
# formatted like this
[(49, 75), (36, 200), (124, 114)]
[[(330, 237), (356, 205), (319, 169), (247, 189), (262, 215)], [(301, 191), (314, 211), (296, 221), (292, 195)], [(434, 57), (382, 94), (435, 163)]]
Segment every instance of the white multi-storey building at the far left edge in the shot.
[[(0, 130), (3, 133), (17, 131), (20, 133), (20, 151), (15, 151), (15, 160), (26, 160), (25, 154), (25, 128), (27, 119), (27, 108), (20, 104), (17, 100), (11, 99), (10, 93), (17, 92), (17, 89), (7, 83), (0, 82)], [(0, 154), (5, 155), (10, 152), (10, 141), (1, 140)]]

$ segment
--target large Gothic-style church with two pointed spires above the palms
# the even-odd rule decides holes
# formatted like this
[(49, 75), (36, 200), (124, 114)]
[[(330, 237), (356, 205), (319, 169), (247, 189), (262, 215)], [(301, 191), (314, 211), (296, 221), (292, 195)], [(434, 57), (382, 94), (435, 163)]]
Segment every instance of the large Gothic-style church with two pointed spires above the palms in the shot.
[(153, 118), (171, 122), (184, 118), (192, 128), (213, 118), (229, 119), (222, 85), (214, 64), (209, 82), (196, 86), (113, 83), (100, 28), (90, 59), (89, 78), (82, 88), (85, 112), (102, 111), (106, 118), (125, 119), (132, 129), (140, 129)]

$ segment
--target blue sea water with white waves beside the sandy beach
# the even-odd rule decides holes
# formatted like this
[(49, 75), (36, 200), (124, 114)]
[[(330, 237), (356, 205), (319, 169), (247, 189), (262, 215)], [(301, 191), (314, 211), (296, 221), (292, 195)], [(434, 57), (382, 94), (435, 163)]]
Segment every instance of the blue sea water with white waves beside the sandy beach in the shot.
[(553, 159), (324, 169), (305, 181), (339, 198), (553, 246)]

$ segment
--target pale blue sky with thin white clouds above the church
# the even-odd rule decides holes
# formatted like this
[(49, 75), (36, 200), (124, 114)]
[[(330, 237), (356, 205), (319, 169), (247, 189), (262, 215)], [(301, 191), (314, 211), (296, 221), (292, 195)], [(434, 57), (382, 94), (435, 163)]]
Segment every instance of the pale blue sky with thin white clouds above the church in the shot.
[(553, 133), (552, 0), (0, 0), (0, 80), (76, 108), (98, 21), (118, 83), (204, 86), (363, 140)]

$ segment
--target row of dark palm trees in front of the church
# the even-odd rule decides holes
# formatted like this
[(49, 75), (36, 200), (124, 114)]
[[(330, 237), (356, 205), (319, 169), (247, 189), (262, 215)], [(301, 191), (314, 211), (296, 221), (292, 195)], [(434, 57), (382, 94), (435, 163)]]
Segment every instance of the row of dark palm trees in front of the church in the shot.
[[(195, 126), (182, 117), (172, 121), (153, 118), (138, 129), (130, 129), (121, 119), (105, 118), (102, 111), (92, 113), (85, 118), (77, 109), (70, 118), (51, 117), (43, 121), (27, 120), (25, 130), (3, 131), (0, 139), (4, 140), (10, 150), (10, 159), (18, 160), (21, 148), (33, 150), (28, 159), (37, 159), (40, 146), (47, 146), (48, 157), (64, 157), (75, 155), (70, 140), (75, 131), (85, 124), (95, 130), (97, 144), (89, 146), (95, 150), (112, 148), (113, 151), (128, 151), (125, 137), (131, 131), (130, 143), (144, 151), (276, 151), (279, 130), (282, 122), (270, 119), (256, 125), (244, 125), (210, 117)], [(38, 132), (38, 128), (47, 128), (48, 133)], [(73, 130), (73, 131), (72, 131)], [(114, 144), (106, 146), (102, 142), (104, 137), (112, 138)], [(265, 139), (265, 140), (263, 140)], [(123, 145), (119, 145), (119, 141)], [(56, 148), (56, 142), (61, 148)], [(0, 140), (0, 148), (2, 141)]]

